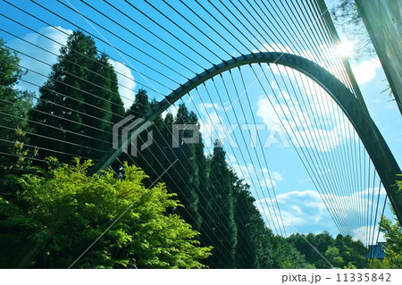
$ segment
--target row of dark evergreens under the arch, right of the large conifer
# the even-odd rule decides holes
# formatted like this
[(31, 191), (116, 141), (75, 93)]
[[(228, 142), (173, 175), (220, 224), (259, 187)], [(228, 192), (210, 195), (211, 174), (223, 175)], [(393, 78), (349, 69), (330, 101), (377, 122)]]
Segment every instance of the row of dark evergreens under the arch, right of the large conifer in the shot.
[[(142, 117), (153, 104), (147, 91), (140, 89), (128, 114)], [(180, 104), (176, 116), (167, 113), (156, 119), (147, 130), (154, 135), (153, 144), (130, 160), (148, 173), (149, 184), (162, 175), (167, 189), (178, 195), (183, 207), (172, 212), (200, 231), (203, 246), (214, 247), (206, 264), (210, 268), (306, 267), (306, 258), (265, 226), (249, 186), (228, 165), (220, 141), (215, 141), (211, 155), (205, 155), (202, 134), (198, 143), (188, 144), (183, 138), (192, 138), (192, 130), (180, 130), (173, 147), (173, 125), (178, 124), (199, 129), (197, 114)], [(146, 140), (147, 133), (141, 134), (138, 145)]]

